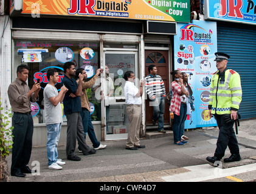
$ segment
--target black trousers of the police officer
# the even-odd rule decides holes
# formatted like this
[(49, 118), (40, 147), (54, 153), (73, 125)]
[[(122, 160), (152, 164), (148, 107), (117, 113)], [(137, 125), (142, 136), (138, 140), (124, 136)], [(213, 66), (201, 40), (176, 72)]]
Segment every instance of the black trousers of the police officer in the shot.
[(237, 142), (237, 137), (234, 132), (234, 122), (226, 123), (223, 120), (224, 115), (215, 115), (218, 127), (220, 129), (217, 147), (214, 156), (218, 158), (223, 158), (225, 155), (225, 150), (227, 146), (229, 147), (231, 154), (239, 154), (239, 147)]

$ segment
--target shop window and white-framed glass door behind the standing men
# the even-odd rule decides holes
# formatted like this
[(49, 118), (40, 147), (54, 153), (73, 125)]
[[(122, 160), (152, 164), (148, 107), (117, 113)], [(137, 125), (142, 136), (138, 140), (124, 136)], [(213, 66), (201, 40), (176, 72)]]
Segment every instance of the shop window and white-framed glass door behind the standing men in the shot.
[[(19, 64), (27, 64), (30, 69), (28, 85), (39, 79), (41, 90), (39, 99), (32, 103), (32, 116), (35, 128), (35, 144), (46, 141), (44, 124), (44, 99), (43, 90), (48, 80), (46, 73), (49, 68), (58, 70), (59, 81), (55, 86), (61, 87), (64, 76), (63, 64), (67, 61), (75, 63), (75, 68), (86, 70), (88, 80), (97, 69), (103, 69), (98, 80), (91, 89), (86, 90), (90, 102), (91, 118), (94, 130), (99, 140), (126, 139), (129, 125), (126, 117), (125, 96), (123, 87), (125, 80), (123, 73), (131, 70), (140, 78), (139, 68), (139, 37), (136, 35), (109, 35), (58, 32), (44, 32), (31, 29), (16, 30), (13, 32), (13, 78), (16, 77), (15, 69)], [(69, 37), (69, 38), (61, 38)], [(74, 37), (71, 40), (70, 37)], [(81, 39), (78, 39), (78, 36)], [(128, 39), (127, 39), (128, 38)], [(119, 43), (123, 42), (123, 43)], [(101, 61), (102, 60), (102, 61)], [(138, 79), (139, 81), (139, 79)], [(137, 82), (139, 84), (139, 82)], [(63, 127), (66, 130), (66, 116), (63, 112)], [(65, 142), (65, 133), (60, 142)]]

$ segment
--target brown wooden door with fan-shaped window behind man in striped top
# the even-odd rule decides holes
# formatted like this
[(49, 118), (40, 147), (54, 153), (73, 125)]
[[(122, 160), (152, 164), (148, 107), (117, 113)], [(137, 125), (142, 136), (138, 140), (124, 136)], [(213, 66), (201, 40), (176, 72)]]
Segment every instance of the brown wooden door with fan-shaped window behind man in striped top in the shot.
[[(145, 76), (148, 75), (148, 66), (149, 65), (156, 65), (157, 74), (162, 77), (165, 85), (165, 92), (169, 92), (169, 65), (168, 65), (168, 51), (165, 50), (145, 50)], [(153, 116), (153, 107), (149, 105), (150, 100), (148, 99), (145, 102), (146, 108), (146, 126), (153, 126), (152, 123), (152, 116)], [(170, 125), (170, 114), (169, 114), (169, 107), (165, 103), (165, 112), (164, 112), (164, 125)], [(157, 125), (155, 126), (157, 128)]]

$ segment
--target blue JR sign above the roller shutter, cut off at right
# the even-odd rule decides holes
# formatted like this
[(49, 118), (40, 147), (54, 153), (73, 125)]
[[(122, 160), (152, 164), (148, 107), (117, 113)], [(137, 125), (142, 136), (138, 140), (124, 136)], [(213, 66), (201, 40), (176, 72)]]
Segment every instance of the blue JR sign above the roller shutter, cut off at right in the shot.
[(204, 1), (205, 19), (256, 24), (256, 0)]

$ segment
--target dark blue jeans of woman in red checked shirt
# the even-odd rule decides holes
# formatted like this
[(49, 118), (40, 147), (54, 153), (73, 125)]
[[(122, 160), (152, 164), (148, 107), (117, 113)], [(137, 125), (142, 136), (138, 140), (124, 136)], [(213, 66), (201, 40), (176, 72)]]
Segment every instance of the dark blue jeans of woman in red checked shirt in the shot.
[(181, 134), (182, 130), (184, 132), (184, 122), (187, 116), (187, 104), (181, 103), (181, 109), (179, 111), (179, 116), (174, 115), (174, 122), (173, 122), (173, 139), (174, 142), (181, 141)]

